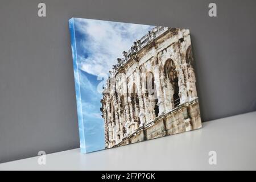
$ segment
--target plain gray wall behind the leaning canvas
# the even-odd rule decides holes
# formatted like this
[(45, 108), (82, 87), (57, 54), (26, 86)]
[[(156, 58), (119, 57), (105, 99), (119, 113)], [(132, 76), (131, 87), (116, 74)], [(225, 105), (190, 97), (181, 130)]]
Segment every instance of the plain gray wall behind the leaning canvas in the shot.
[[(39, 18), (38, 3), (47, 6)], [(217, 17), (208, 16), (210, 2)], [(203, 121), (256, 110), (256, 1), (1, 1), (0, 163), (79, 147), (72, 17), (189, 28)]]

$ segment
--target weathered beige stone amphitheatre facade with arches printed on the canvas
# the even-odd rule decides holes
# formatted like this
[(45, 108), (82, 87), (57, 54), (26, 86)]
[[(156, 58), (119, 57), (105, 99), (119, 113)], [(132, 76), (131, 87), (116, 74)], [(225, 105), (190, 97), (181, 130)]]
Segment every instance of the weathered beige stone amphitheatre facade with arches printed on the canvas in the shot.
[(155, 27), (123, 56), (101, 100), (106, 148), (201, 127), (189, 30)]

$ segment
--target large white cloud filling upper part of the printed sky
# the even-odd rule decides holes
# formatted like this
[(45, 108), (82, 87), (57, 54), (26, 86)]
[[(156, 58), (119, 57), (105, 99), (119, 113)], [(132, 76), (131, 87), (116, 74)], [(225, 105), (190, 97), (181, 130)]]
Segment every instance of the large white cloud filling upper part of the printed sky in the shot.
[(76, 19), (76, 27), (86, 39), (80, 45), (88, 57), (79, 55), (80, 69), (92, 75), (108, 73), (117, 57), (128, 51), (133, 42), (142, 38), (152, 28), (141, 24), (108, 22), (92, 19)]

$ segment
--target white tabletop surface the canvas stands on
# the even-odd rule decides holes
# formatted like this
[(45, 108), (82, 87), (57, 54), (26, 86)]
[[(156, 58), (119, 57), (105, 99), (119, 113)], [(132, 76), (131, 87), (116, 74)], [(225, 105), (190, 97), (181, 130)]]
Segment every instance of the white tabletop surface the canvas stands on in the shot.
[[(203, 128), (129, 146), (80, 154), (79, 148), (0, 164), (1, 170), (256, 169), (256, 111), (204, 122)], [(209, 165), (209, 151), (217, 165)]]

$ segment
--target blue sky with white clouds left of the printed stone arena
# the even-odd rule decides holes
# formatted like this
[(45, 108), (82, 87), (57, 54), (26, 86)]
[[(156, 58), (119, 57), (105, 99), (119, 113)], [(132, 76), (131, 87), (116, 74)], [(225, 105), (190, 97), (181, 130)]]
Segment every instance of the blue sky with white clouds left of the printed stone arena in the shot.
[(92, 152), (105, 147), (104, 119), (100, 111), (102, 93), (98, 85), (105, 83), (104, 78), (108, 77), (117, 57), (123, 57), (122, 52), (128, 51), (133, 42), (153, 26), (81, 18), (75, 18), (74, 25), (76, 45), (72, 44), (72, 51), (78, 63), (74, 69), (79, 73), (75, 75), (76, 86), (80, 80), (80, 93), (76, 90), (76, 94), (81, 96), (82, 103), (77, 110), (82, 112), (80, 130), (84, 129), (84, 135), (80, 132), (80, 146), (86, 143), (86, 152)]

